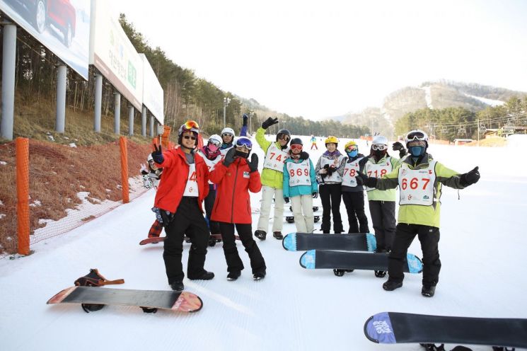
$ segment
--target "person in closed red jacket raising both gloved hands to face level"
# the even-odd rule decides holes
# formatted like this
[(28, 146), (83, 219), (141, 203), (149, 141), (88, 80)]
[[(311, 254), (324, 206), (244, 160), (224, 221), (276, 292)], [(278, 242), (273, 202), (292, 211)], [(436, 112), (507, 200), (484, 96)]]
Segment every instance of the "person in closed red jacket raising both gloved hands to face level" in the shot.
[(235, 147), (225, 155), (224, 161), (218, 163), (210, 173), (210, 180), (218, 185), (211, 218), (219, 222), (227, 261), (227, 280), (237, 280), (243, 270), (243, 262), (236, 248), (234, 226), (245, 251), (249, 254), (253, 279), (261, 280), (265, 277), (265, 260), (253, 239), (251, 228), (253, 218), (249, 191), (259, 192), (262, 188), (260, 173), (258, 173), (258, 156), (253, 154), (248, 161), (251, 149), (253, 143), (250, 139), (238, 138)]

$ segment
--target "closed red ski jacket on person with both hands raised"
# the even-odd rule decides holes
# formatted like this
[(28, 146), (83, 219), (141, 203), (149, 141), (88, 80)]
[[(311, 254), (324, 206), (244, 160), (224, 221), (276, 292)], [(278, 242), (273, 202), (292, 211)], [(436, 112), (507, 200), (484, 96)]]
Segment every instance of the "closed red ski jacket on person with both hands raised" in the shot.
[(236, 224), (252, 223), (249, 191), (259, 192), (262, 188), (260, 173), (251, 173), (247, 160), (238, 158), (228, 167), (223, 161), (218, 163), (209, 178), (218, 185), (211, 219)]

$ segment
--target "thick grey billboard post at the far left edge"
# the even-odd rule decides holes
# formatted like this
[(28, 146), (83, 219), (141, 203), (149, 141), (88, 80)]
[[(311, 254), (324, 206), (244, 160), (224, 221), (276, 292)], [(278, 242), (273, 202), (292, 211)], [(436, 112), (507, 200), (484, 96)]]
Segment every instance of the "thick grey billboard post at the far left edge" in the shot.
[[(5, 18), (2, 18), (5, 23)], [(4, 24), (4, 48), (2, 56), (2, 121), (1, 137), (13, 140), (13, 120), (15, 114), (15, 53), (16, 25)]]

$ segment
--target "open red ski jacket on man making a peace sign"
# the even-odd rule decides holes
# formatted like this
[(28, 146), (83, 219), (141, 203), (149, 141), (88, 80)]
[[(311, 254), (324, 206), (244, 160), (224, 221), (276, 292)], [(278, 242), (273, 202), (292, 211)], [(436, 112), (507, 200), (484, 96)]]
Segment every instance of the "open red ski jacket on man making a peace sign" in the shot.
[[(154, 206), (175, 213), (180, 205), (187, 184), (190, 166), (187, 163), (185, 153), (178, 147), (163, 152), (163, 163), (156, 163), (163, 167), (163, 177), (156, 192)], [(203, 161), (202, 156), (194, 153), (196, 163), (196, 182), (198, 189), (199, 209), (202, 210), (202, 202), (209, 195), (209, 168)]]

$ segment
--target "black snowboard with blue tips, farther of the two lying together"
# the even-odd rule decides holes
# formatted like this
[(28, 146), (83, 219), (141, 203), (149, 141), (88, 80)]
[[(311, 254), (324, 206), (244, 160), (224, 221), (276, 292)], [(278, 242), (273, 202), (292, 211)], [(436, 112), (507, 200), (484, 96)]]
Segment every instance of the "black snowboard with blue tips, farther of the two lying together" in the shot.
[(349, 250), (375, 251), (375, 236), (370, 233), (313, 234), (291, 233), (284, 236), (282, 246), (287, 251)]

